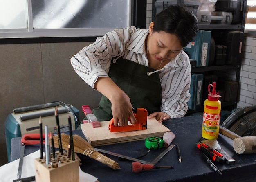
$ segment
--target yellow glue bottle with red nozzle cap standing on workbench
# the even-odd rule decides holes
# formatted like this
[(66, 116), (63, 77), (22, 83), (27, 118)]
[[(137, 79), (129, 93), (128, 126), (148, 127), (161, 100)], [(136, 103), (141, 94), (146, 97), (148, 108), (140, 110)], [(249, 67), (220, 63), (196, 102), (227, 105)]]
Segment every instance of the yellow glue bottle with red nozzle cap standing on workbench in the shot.
[[(212, 86), (212, 92), (210, 91)], [(202, 125), (202, 137), (205, 139), (216, 139), (219, 135), (220, 107), (219, 93), (215, 92), (216, 82), (208, 85), (208, 99), (204, 101), (204, 114)]]

